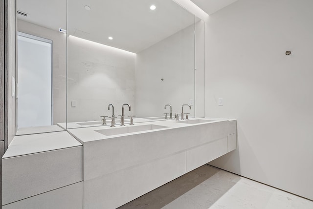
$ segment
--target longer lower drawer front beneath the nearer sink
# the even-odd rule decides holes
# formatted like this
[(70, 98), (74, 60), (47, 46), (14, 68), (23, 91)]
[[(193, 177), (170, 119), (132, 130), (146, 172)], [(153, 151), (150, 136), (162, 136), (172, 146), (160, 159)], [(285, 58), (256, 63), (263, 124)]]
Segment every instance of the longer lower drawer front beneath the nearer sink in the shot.
[(186, 173), (186, 151), (84, 181), (84, 209), (114, 209)]

